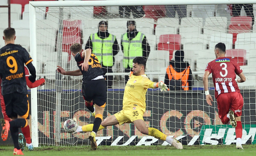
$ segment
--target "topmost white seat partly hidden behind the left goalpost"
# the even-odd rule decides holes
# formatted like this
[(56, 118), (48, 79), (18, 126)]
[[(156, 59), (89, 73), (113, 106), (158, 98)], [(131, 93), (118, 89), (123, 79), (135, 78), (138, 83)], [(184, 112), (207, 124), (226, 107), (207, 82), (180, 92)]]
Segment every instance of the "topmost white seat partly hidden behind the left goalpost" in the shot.
[[(45, 19), (46, 8), (36, 8), (36, 18), (37, 20)], [(22, 20), (29, 20), (29, 4), (24, 7), (24, 12), (22, 13)]]

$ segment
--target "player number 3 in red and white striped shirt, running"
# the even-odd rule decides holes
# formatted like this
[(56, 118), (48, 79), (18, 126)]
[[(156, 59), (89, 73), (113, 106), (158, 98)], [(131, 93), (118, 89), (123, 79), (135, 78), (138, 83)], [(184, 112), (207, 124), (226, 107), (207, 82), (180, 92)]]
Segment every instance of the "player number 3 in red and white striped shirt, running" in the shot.
[[(214, 49), (216, 59), (208, 63), (203, 75), (203, 86), (205, 88), (206, 101), (212, 105), (212, 97), (208, 91), (208, 77), (212, 73), (212, 80), (215, 87), (215, 98), (217, 99), (219, 118), (223, 124), (229, 121), (236, 128), (236, 148), (241, 146), (242, 124), (241, 115), (244, 105), (243, 97), (237, 83), (245, 81), (245, 76), (238, 63), (226, 58), (226, 46), (218, 43)], [(236, 79), (236, 75), (240, 78)]]

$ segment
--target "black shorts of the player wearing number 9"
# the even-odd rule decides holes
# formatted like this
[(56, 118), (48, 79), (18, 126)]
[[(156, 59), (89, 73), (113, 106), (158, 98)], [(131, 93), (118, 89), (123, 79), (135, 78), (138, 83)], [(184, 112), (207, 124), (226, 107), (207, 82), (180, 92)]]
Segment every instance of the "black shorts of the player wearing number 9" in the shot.
[(21, 93), (6, 94), (4, 97), (5, 111), (9, 118), (17, 118), (20, 115), (24, 119), (29, 119), (28, 95)]

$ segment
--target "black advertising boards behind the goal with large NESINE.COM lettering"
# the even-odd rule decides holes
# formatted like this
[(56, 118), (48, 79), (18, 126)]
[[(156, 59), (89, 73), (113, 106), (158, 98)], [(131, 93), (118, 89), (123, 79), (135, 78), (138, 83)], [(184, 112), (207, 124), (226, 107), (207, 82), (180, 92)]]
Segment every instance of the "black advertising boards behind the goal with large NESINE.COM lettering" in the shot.
[[(243, 138), (245, 136), (247, 137), (245, 138), (245, 143), (256, 144), (255, 90), (241, 90), (241, 93), (244, 97), (244, 107), (242, 110), (243, 115), (241, 118), (242, 124), (245, 127)], [(212, 90), (211, 94), (214, 94)], [(54, 144), (54, 97), (55, 92), (52, 91), (43, 91), (38, 94), (38, 129), (39, 144), (41, 144), (41, 146)], [(48, 100), (45, 100), (46, 98), (48, 98)], [(163, 93), (158, 92), (157, 90), (149, 90), (148, 94), (146, 94), (146, 98), (147, 109), (144, 113), (144, 120), (147, 126), (157, 128), (164, 132), (166, 135), (173, 135), (174, 137), (178, 138), (178, 140), (181, 140), (182, 144), (193, 145), (232, 143), (232, 140), (227, 140), (227, 137), (230, 137), (227, 136), (227, 133), (232, 132), (232, 129), (234, 128), (231, 128), (230, 125), (222, 125), (218, 117), (216, 102), (214, 102), (212, 107), (209, 107), (206, 103), (206, 100), (204, 100), (204, 94), (189, 91), (170, 92), (169, 94), (169, 92)], [(108, 91), (108, 101), (103, 115), (104, 118), (121, 110), (122, 102), (123, 91)], [(70, 97), (69, 91), (66, 91), (62, 94), (61, 116), (61, 127), (64, 121), (68, 118), (77, 117), (79, 125), (92, 123), (94, 120), (94, 117), (90, 117), (90, 112), (86, 109), (82, 94), (79, 91), (72, 94), (72, 97)], [(214, 137), (218, 135), (220, 128), (226, 128), (226, 135), (223, 135), (222, 138)], [(212, 130), (210, 134), (209, 130)], [(60, 145), (74, 146), (80, 144), (88, 144), (88, 132), (80, 133), (74, 136), (64, 132), (62, 128), (61, 132)], [(251, 133), (254, 133), (254, 135)], [(210, 135), (211, 137), (205, 138), (205, 134)], [(98, 139), (102, 140), (100, 145), (124, 144), (131, 137), (133, 137), (134, 140), (131, 140), (131, 142), (126, 144), (138, 145), (141, 144), (140, 140), (148, 141), (148, 144), (153, 145), (163, 143), (161, 140), (158, 141), (158, 139), (154, 140), (145, 138), (145, 135), (142, 135), (132, 123), (127, 123), (123, 126), (109, 126), (99, 131), (97, 135), (98, 137), (101, 137)], [(234, 136), (234, 132), (231, 135)], [(119, 137), (117, 139), (118, 136), (124, 137)], [(212, 140), (214, 140), (214, 143), (212, 143)], [(12, 145), (11, 137), (9, 136), (8, 140), (5, 142), (0, 140), (0, 144)]]

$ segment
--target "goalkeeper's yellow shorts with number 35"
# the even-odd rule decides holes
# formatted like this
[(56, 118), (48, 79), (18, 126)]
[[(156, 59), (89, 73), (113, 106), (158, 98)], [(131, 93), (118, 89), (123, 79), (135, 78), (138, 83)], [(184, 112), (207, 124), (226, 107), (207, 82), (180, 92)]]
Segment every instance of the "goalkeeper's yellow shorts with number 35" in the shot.
[(122, 109), (117, 112), (115, 115), (119, 125), (123, 125), (124, 123), (132, 123), (136, 120), (143, 120), (144, 111), (142, 109), (138, 109), (138, 107), (134, 106), (131, 109)]

